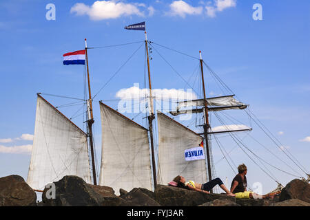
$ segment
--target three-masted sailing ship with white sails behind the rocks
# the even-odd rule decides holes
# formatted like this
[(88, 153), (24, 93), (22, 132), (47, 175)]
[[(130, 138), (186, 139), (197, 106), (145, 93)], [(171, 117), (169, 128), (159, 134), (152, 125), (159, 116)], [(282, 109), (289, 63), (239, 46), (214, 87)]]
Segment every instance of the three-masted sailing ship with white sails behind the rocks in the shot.
[[(130, 30), (144, 30), (145, 23), (127, 26)], [(212, 158), (210, 150), (210, 135), (216, 133), (231, 133), (251, 131), (236, 129), (212, 131), (209, 123), (209, 113), (230, 109), (246, 109), (247, 104), (239, 102), (234, 95), (207, 98), (205, 89), (203, 58), (200, 52), (200, 74), (203, 98), (185, 100), (177, 103), (172, 116), (182, 114), (203, 114), (203, 133), (196, 133), (187, 126), (177, 122), (169, 115), (154, 111), (154, 97), (152, 95), (151, 72), (149, 65), (149, 44), (145, 31), (145, 52), (147, 58), (147, 72), (149, 80), (147, 115), (148, 127), (145, 128), (127, 118), (122, 113), (112, 109), (100, 101), (101, 112), (101, 168), (99, 179), (95, 166), (94, 137), (92, 126), (94, 115), (92, 109), (93, 97), (90, 87), (90, 71), (88, 67), (87, 41), (85, 50), (77, 54), (85, 54), (87, 67), (88, 99), (87, 131), (76, 126), (61, 111), (56, 109), (42, 94), (37, 94), (37, 111), (34, 127), (34, 142), (32, 157), (28, 172), (28, 184), (36, 191), (42, 192), (46, 184), (58, 181), (65, 175), (76, 175), (88, 184), (111, 186), (116, 193), (120, 188), (147, 188), (154, 190), (156, 184), (166, 185), (176, 175), (183, 175), (196, 182), (207, 182), (212, 177)], [(76, 54), (76, 53), (75, 53)], [(189, 109), (190, 108), (190, 109)], [(158, 146), (154, 138), (154, 122), (158, 126)], [(185, 159), (191, 149), (203, 146), (199, 159)], [(308, 179), (309, 180), (309, 179)], [(278, 192), (282, 185), (279, 185)]]

